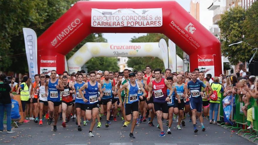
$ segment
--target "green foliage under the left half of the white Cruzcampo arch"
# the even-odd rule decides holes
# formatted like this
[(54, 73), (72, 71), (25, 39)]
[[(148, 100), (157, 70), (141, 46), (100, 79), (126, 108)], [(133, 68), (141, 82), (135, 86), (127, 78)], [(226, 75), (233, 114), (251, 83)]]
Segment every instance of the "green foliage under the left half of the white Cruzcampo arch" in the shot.
[(116, 57), (93, 57), (88, 62), (86, 62), (86, 66), (88, 72), (95, 69), (101, 71), (119, 71)]

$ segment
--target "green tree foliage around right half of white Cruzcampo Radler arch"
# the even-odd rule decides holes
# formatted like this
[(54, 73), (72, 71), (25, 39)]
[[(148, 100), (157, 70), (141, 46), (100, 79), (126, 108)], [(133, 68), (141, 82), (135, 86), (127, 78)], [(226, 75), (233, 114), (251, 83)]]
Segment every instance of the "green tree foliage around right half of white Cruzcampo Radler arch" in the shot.
[[(164, 38), (168, 42), (168, 37), (160, 33), (148, 33), (146, 36), (133, 37), (131, 38), (131, 42), (159, 42), (161, 38)], [(178, 46), (176, 46), (176, 54), (183, 58), (183, 50)], [(152, 68), (160, 68), (164, 70), (163, 61), (154, 57), (129, 57), (127, 65), (134, 70), (145, 69), (146, 65), (150, 65)]]

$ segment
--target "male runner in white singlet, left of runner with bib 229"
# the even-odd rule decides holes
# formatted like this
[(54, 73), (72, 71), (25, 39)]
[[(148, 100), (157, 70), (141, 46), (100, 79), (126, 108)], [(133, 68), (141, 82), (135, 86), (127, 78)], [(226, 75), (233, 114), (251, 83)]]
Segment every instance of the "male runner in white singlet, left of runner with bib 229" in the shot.
[[(45, 76), (40, 76), (40, 84), (37, 85), (34, 89), (32, 94), (35, 94), (35, 91), (38, 90), (39, 91), (39, 104), (40, 104), (40, 111), (39, 111), (39, 125), (43, 124), (42, 121), (42, 116), (43, 114), (47, 113), (47, 107), (48, 107), (48, 103), (47, 103), (47, 95), (46, 94), (46, 90), (45, 90)], [(46, 116), (46, 118), (48, 118), (48, 116)]]

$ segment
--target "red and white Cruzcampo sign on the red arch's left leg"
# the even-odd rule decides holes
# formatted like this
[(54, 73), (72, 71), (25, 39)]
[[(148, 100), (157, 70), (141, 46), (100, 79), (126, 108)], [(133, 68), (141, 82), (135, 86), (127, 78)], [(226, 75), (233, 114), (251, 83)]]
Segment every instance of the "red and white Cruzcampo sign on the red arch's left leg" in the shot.
[(40, 57), (40, 74), (51, 74), (52, 70), (56, 70), (56, 57), (55, 56), (42, 56)]

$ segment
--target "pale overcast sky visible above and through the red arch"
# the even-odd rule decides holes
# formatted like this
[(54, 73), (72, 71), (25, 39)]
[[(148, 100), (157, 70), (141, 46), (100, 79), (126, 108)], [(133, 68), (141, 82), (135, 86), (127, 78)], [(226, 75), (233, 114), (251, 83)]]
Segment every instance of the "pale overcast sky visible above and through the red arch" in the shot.
[[(123, 0), (91, 0), (91, 1), (123, 1)], [(126, 1), (139, 1), (139, 0), (126, 0)], [(140, 0), (140, 1), (154, 1), (154, 0)], [(161, 1), (161, 0), (156, 0)], [(177, 1), (186, 11), (190, 11), (191, 0), (175, 0)], [(108, 42), (130, 42), (133, 36), (139, 37), (146, 35), (146, 33), (103, 33), (103, 37)]]

